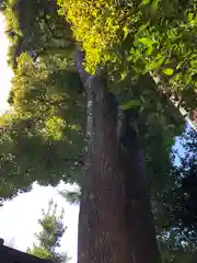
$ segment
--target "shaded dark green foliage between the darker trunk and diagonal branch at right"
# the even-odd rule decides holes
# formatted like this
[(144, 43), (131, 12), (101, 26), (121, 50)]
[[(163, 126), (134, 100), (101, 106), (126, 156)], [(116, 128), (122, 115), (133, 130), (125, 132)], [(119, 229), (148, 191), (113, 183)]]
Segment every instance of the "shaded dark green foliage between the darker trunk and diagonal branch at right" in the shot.
[[(124, 83), (125, 82), (125, 83)], [(119, 104), (136, 100), (139, 105), (131, 106), (131, 119), (140, 135), (144, 148), (146, 168), (150, 190), (155, 197), (167, 183), (167, 174), (173, 165), (172, 146), (175, 137), (184, 130), (184, 122), (178, 111), (167, 99), (158, 92), (157, 84), (149, 75), (129, 85), (129, 79), (121, 87), (127, 87), (118, 94)]]

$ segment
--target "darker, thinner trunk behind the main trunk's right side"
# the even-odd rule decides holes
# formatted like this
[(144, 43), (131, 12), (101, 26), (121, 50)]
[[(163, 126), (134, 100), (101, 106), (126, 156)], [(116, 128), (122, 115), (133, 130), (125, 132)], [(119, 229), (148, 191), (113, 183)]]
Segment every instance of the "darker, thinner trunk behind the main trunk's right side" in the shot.
[(125, 174), (127, 229), (134, 249), (134, 263), (160, 263), (154, 220), (151, 213), (144, 158), (138, 132), (124, 111), (120, 132), (120, 160)]

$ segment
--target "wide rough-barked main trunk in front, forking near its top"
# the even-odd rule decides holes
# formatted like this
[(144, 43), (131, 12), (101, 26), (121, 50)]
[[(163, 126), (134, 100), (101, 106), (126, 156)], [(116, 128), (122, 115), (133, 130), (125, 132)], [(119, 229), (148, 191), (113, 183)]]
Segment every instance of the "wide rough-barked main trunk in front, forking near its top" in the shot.
[(77, 67), (88, 93), (88, 156), (79, 215), (79, 263), (132, 263), (116, 135), (117, 103), (101, 76)]

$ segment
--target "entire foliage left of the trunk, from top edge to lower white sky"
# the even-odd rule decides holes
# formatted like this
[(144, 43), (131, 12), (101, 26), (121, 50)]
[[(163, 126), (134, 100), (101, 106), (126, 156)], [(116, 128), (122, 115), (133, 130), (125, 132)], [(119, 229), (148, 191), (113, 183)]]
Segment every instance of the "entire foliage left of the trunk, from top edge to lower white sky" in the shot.
[(56, 1), (7, 2), (4, 14), (7, 33), (14, 32), (12, 110), (0, 117), (1, 196), (7, 198), (35, 181), (57, 185), (79, 179), (74, 163), (84, 146), (85, 103), (71, 31)]

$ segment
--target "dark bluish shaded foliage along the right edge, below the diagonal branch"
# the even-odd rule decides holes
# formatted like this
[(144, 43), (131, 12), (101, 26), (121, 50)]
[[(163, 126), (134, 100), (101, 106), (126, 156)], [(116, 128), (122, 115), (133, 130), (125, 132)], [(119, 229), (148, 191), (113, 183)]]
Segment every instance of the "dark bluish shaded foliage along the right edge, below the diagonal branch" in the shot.
[(197, 133), (190, 128), (181, 137), (184, 158), (171, 171), (169, 187), (162, 192), (159, 235), (166, 262), (196, 262), (197, 253)]

